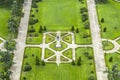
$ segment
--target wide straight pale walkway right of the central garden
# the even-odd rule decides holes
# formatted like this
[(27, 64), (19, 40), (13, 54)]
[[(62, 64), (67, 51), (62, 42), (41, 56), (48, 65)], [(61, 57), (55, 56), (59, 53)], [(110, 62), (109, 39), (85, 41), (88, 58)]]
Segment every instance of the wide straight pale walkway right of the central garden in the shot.
[(97, 18), (95, 0), (87, 0), (87, 6), (90, 19), (97, 80), (108, 80), (107, 74), (104, 73), (104, 71), (106, 71), (106, 65), (102, 49), (102, 40), (100, 36), (100, 26)]

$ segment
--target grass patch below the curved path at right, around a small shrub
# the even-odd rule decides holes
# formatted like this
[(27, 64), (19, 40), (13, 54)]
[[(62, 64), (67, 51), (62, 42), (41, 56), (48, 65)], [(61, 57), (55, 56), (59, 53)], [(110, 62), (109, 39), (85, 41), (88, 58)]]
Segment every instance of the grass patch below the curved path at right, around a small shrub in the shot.
[[(109, 62), (110, 57), (112, 57), (112, 62)], [(120, 68), (120, 54), (119, 53), (112, 53), (112, 54), (105, 54), (106, 65), (109, 69), (112, 68), (113, 65), (118, 64)]]

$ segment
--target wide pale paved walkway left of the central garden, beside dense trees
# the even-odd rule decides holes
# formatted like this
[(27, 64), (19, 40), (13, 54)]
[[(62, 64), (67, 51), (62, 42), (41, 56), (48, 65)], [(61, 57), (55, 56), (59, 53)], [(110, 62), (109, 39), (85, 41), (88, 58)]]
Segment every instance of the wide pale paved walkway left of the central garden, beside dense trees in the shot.
[(21, 18), (18, 38), (16, 40), (17, 42), (16, 51), (14, 52), (14, 58), (13, 58), (13, 62), (15, 62), (15, 64), (11, 67), (11, 70), (13, 72), (11, 76), (11, 80), (20, 80), (20, 73), (21, 73), (22, 60), (23, 60), (23, 54), (24, 54), (24, 48), (26, 42), (31, 2), (32, 0), (28, 0), (28, 2), (26, 2), (25, 5), (23, 6), (24, 17)]

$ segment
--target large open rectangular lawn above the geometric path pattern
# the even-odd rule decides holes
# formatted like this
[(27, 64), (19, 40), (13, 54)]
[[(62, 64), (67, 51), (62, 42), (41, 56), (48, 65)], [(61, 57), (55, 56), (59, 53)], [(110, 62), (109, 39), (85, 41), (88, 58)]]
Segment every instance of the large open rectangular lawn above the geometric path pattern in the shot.
[(47, 26), (49, 30), (70, 30), (72, 25), (80, 25), (78, 0), (43, 0), (38, 6), (39, 13), (34, 14), (40, 25)]

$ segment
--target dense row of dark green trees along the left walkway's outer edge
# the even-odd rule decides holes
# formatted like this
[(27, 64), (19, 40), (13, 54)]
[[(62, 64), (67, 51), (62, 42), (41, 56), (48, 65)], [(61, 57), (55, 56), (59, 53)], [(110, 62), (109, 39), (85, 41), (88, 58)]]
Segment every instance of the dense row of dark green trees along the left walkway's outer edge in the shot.
[(6, 51), (0, 51), (0, 63), (3, 65), (3, 70), (0, 72), (1, 80), (10, 80), (10, 75), (12, 72), (10, 71), (10, 67), (13, 64), (13, 51), (15, 50), (16, 42), (14, 39), (18, 34), (18, 27), (20, 23), (20, 18), (22, 16), (22, 3), (24, 0), (0, 0), (2, 4), (10, 4), (12, 3), (11, 16), (8, 20), (8, 30), (9, 35), (8, 39), (5, 42)]

